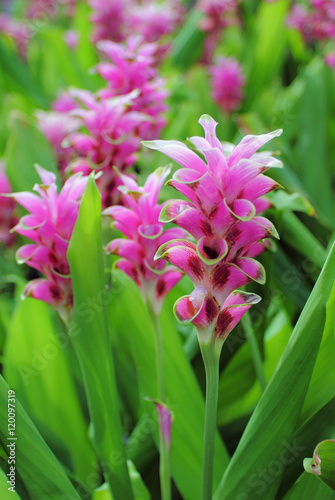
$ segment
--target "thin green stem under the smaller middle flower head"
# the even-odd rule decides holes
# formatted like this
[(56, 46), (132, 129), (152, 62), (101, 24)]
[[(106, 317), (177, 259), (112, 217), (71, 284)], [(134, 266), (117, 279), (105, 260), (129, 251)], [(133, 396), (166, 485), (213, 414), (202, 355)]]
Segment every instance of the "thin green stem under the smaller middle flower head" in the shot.
[[(155, 336), (156, 348), (156, 370), (157, 370), (157, 385), (158, 385), (158, 399), (159, 403), (165, 403), (165, 380), (164, 380), (164, 348), (163, 348), (163, 335), (159, 315), (154, 311), (152, 303), (147, 300), (147, 308), (152, 321), (152, 326)], [(157, 406), (157, 405), (156, 405)], [(171, 499), (171, 472), (170, 472), (170, 439), (166, 436), (164, 416), (158, 412), (159, 423), (159, 477), (161, 484), (161, 498), (162, 500)]]

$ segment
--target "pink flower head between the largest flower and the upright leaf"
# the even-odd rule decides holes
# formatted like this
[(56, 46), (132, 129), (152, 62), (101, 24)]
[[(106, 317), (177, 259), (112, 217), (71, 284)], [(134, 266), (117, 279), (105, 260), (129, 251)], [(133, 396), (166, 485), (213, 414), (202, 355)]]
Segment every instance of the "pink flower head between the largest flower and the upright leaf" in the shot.
[(163, 261), (155, 261), (158, 248), (174, 238), (183, 238), (183, 229), (167, 229), (159, 222), (162, 206), (158, 193), (169, 174), (169, 168), (159, 168), (149, 175), (144, 187), (131, 177), (120, 174), (126, 206), (113, 206), (103, 213), (114, 220), (114, 227), (125, 238), (112, 240), (107, 252), (121, 257), (116, 268), (126, 273), (139, 287), (145, 301), (150, 300), (158, 313), (168, 292), (181, 279), (182, 273)]

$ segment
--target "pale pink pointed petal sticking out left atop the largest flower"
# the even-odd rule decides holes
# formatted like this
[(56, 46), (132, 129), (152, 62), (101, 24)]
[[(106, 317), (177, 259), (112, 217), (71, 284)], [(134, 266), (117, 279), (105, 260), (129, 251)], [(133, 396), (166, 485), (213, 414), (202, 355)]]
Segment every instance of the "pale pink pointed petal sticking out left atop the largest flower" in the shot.
[(143, 141), (142, 144), (150, 149), (155, 149), (176, 161), (182, 167), (194, 169), (203, 175), (206, 171), (205, 162), (179, 141)]

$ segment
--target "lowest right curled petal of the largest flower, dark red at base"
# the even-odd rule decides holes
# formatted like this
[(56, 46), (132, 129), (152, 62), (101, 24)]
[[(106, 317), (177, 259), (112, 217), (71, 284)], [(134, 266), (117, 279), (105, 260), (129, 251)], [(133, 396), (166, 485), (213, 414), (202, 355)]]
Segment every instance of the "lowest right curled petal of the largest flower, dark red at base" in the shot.
[(215, 325), (214, 339), (224, 341), (242, 316), (261, 298), (239, 290), (231, 293), (223, 304)]

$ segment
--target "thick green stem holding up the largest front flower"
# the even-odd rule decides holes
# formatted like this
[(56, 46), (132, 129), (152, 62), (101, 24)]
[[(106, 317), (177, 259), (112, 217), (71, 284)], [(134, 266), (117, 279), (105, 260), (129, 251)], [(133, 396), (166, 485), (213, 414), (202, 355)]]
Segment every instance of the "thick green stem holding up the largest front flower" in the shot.
[(202, 358), (206, 372), (206, 410), (204, 429), (204, 448), (202, 463), (202, 500), (212, 499), (213, 469), (216, 414), (218, 406), (219, 388), (219, 361), (220, 353), (217, 352), (213, 342), (200, 343)]

